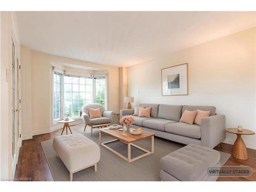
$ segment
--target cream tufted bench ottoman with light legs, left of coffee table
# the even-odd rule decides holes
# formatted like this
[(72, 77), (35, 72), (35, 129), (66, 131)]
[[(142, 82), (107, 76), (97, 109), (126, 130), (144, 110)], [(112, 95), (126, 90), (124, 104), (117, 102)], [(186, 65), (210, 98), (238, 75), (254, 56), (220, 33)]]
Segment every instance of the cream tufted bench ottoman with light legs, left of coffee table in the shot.
[(53, 148), (68, 168), (70, 181), (73, 180), (73, 173), (84, 168), (94, 166), (95, 172), (97, 171), (100, 148), (98, 144), (82, 134), (57, 136), (53, 139)]

